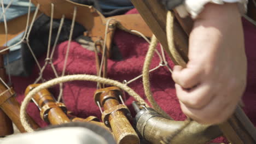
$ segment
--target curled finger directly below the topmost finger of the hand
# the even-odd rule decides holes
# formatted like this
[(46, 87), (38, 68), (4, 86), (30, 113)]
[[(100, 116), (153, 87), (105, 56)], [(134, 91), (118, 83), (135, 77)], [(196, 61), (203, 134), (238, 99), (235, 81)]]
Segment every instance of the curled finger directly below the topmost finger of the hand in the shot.
[(187, 90), (179, 85), (175, 85), (178, 99), (186, 106), (193, 109), (202, 109), (210, 103), (214, 93), (210, 85), (201, 83), (199, 86)]

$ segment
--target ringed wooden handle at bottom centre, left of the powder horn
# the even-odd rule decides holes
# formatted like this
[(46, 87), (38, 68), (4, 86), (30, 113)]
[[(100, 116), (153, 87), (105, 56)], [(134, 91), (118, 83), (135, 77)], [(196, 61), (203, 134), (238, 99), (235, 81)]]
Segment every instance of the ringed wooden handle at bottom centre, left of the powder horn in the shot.
[[(118, 99), (121, 91), (117, 87), (98, 89), (95, 101), (104, 107), (102, 121), (112, 129), (117, 143), (139, 143), (139, 137), (127, 119), (129, 111), (125, 105), (120, 105)], [(100, 96), (100, 97), (99, 97)]]

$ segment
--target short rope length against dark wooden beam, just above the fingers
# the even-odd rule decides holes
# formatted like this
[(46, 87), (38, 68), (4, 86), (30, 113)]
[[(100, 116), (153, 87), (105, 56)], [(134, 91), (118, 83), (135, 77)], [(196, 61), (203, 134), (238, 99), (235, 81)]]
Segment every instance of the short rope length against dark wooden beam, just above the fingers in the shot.
[(179, 55), (179, 52), (174, 46), (174, 40), (173, 40), (173, 14), (171, 11), (168, 11), (167, 13), (167, 20), (166, 20), (166, 35), (167, 35), (167, 42), (168, 42), (168, 48), (171, 52), (171, 55), (173, 56), (174, 61), (176, 61), (179, 65), (181, 65), (183, 68), (186, 67), (186, 62), (184, 59)]

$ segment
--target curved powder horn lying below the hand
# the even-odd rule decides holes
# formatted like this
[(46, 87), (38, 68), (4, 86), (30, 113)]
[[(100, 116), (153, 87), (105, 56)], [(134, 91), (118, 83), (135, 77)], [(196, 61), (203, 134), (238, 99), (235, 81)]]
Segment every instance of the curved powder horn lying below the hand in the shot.
[(222, 135), (217, 125), (166, 119), (150, 107), (139, 106), (136, 101), (132, 106), (137, 112), (136, 130), (150, 143), (205, 144)]

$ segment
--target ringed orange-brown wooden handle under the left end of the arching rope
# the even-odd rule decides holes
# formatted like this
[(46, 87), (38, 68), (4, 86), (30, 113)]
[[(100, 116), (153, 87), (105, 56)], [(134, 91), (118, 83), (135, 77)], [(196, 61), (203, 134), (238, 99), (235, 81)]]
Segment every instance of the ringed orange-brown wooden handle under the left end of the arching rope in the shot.
[[(39, 85), (40, 84), (33, 84), (28, 86), (26, 88), (25, 95)], [(39, 91), (34, 95), (33, 100), (39, 107), (40, 116), (45, 122), (53, 125), (71, 122), (66, 113), (63, 112), (63, 109), (66, 109), (65, 105), (57, 103), (48, 89)]]

